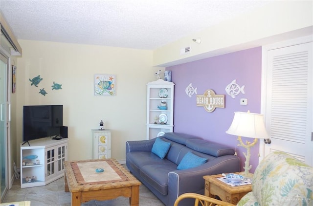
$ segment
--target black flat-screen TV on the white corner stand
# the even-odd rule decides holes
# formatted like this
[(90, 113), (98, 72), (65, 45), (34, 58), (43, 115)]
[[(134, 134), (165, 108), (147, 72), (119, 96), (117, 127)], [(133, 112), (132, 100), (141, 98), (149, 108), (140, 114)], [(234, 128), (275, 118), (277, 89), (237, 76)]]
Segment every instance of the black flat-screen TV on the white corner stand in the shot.
[(63, 105), (23, 106), (23, 142), (57, 136), (63, 126)]

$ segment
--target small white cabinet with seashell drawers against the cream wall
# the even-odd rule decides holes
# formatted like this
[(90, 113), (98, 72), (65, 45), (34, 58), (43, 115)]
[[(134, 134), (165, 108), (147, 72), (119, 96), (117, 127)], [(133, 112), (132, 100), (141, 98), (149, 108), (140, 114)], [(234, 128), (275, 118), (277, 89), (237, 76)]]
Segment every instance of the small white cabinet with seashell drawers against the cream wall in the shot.
[(92, 159), (111, 158), (111, 130), (91, 130)]

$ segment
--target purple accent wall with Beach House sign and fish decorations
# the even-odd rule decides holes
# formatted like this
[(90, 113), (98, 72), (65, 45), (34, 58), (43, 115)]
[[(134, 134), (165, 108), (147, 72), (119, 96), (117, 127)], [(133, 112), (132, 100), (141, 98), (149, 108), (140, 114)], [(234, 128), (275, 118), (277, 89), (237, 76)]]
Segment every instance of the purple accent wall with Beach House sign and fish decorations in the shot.
[[(226, 134), (225, 131), (232, 122), (234, 112), (249, 110), (260, 113), (261, 64), (262, 48), (256, 47), (167, 67), (166, 70), (172, 71), (172, 81), (175, 83), (174, 131), (198, 135), (203, 139), (236, 148), (237, 136)], [(245, 94), (240, 93), (232, 98), (226, 93), (225, 87), (234, 79), (240, 87), (245, 85)], [(203, 107), (197, 106), (197, 94), (189, 97), (185, 92), (190, 83), (197, 88), (197, 94), (202, 95), (208, 89), (216, 94), (224, 94), (225, 108), (206, 112)], [(247, 98), (248, 104), (240, 105), (240, 98)], [(253, 141), (243, 137), (243, 141), (246, 140)], [(246, 149), (237, 147), (241, 168), (245, 161), (242, 152), (246, 152)], [(251, 148), (250, 172), (254, 172), (258, 165), (258, 154), (259, 143)]]

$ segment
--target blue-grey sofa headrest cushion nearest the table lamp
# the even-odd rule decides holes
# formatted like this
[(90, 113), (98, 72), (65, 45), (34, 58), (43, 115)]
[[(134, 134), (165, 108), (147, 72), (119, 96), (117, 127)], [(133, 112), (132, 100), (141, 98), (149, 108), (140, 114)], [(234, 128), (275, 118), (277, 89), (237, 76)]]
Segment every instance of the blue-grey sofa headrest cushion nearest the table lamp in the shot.
[(200, 151), (215, 157), (235, 153), (235, 151), (228, 146), (224, 146), (219, 143), (208, 142), (203, 139), (187, 139), (186, 146), (192, 150)]

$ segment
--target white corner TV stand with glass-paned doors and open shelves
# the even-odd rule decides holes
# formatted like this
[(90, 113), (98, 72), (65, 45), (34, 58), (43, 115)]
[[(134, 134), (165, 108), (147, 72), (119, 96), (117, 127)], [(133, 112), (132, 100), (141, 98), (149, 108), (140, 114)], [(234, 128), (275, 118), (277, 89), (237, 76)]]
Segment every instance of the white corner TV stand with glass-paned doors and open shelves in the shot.
[(67, 138), (45, 137), (29, 141), (30, 146), (21, 144), (21, 188), (44, 186), (63, 177), (67, 142)]

